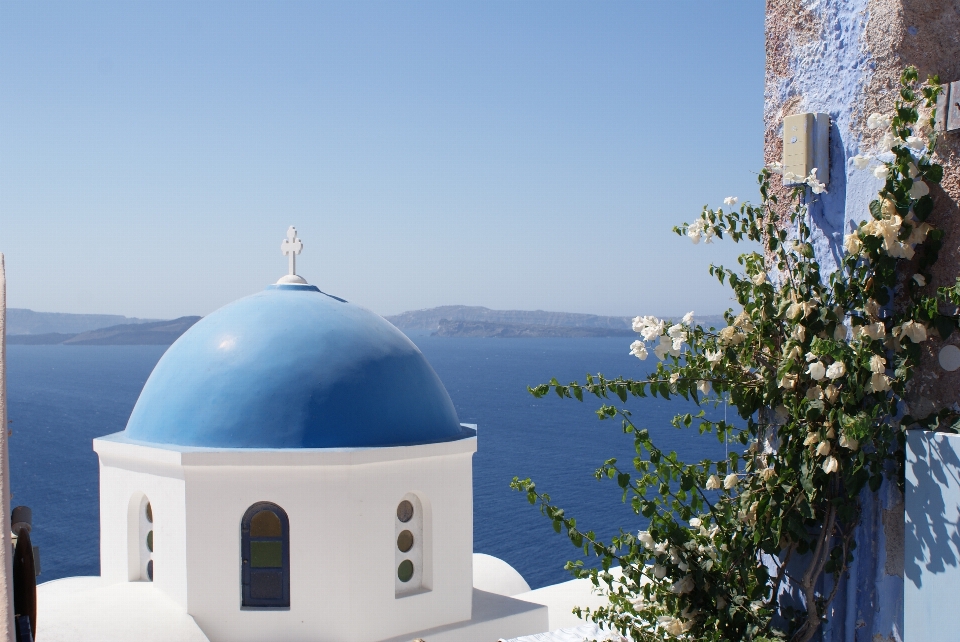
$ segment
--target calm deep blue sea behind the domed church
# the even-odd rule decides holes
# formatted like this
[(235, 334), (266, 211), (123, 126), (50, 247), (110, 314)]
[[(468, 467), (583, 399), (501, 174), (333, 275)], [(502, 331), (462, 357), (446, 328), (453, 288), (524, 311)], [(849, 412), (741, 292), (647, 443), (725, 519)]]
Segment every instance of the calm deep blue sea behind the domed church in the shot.
[[(642, 528), (621, 503), (611, 480), (593, 471), (609, 457), (629, 462), (633, 440), (619, 422), (600, 422), (595, 398), (584, 403), (556, 395), (535, 399), (526, 390), (557, 377), (583, 380), (586, 372), (641, 376), (653, 358), (627, 354), (628, 338), (451, 339), (414, 336), (443, 380), (460, 420), (479, 424), (474, 459), (474, 550), (502, 558), (531, 587), (570, 579), (563, 570), (582, 551), (509, 488), (515, 476), (575, 516), (584, 530), (609, 536)], [(8, 346), (13, 505), (33, 509), (35, 544), (48, 581), (99, 574), (99, 508), (94, 437), (123, 430), (150, 371), (163, 354), (155, 346)], [(722, 455), (711, 435), (669, 425), (684, 402), (631, 400), (638, 424), (661, 447), (694, 461)]]

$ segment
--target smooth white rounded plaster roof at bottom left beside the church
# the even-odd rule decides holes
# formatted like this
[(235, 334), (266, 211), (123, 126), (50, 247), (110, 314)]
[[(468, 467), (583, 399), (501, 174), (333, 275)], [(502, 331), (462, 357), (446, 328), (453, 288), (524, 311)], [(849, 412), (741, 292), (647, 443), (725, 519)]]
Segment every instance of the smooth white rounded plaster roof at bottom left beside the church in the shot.
[(151, 582), (71, 577), (37, 587), (37, 642), (210, 642)]

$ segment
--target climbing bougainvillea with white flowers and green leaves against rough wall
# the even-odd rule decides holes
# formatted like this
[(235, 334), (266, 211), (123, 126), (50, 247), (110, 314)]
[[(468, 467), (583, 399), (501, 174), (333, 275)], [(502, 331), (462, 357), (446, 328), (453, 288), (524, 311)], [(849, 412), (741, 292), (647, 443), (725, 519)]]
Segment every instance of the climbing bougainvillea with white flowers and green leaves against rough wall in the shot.
[[(902, 480), (903, 430), (916, 423), (904, 398), (922, 345), (957, 327), (941, 310), (956, 310), (960, 285), (928, 285), (942, 238), (927, 222), (929, 185), (943, 176), (933, 159), (939, 92), (936, 78), (922, 83), (907, 68), (894, 112), (868, 119), (883, 134), (878, 155), (852, 162), (883, 187), (845, 237), (835, 270), (821, 270), (810, 242), (807, 199), (825, 190), (816, 170), (783, 176), (794, 186), (781, 198), (771, 181), (782, 180), (783, 168), (766, 168), (759, 205), (736, 208), (728, 198), (728, 209), (704, 208), (675, 228), (694, 243), (755, 244), (740, 269), (710, 268), (741, 308), (725, 314), (725, 327), (704, 328), (692, 313), (676, 323), (637, 317), (641, 338), (631, 353), (659, 360), (646, 378), (588, 375), (530, 389), (579, 401), (595, 395), (600, 419), (619, 419), (635, 442), (632, 465), (610, 459), (596, 476), (616, 481), (647, 522), (642, 531), (600, 541), (530, 479), (512, 483), (584, 555), (600, 558), (600, 568), (567, 564), (609, 596), (578, 615), (632, 640), (801, 642), (817, 634), (855, 555), (862, 493), (877, 492), (885, 477)], [(726, 399), (737, 422), (701, 409), (672, 423), (739, 447), (697, 463), (664, 452), (624, 407), (647, 396), (698, 406)]]

